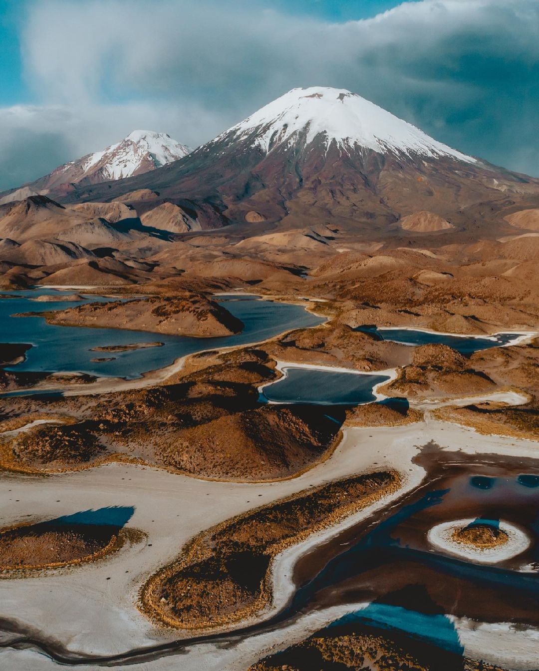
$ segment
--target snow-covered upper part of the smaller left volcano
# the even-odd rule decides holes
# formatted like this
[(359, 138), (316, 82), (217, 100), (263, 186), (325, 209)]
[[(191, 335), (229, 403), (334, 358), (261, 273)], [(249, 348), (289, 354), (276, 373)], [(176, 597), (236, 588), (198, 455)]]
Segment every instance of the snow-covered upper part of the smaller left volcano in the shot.
[(101, 152), (82, 158), (82, 172), (99, 170), (103, 179), (123, 179), (183, 158), (189, 149), (166, 133), (135, 130)]

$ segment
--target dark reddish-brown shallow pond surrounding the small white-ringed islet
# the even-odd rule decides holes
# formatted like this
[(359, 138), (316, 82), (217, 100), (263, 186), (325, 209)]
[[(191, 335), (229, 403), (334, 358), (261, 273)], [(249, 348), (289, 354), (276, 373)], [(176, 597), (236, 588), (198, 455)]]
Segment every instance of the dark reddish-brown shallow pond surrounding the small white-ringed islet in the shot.
[[(437, 458), (433, 455), (433, 462)], [(385, 620), (388, 627), (438, 645), (432, 615), (539, 625), (539, 488), (536, 473), (522, 472), (529, 467), (509, 460), (505, 467), (436, 464), (434, 482), (396, 511), (347, 529), (299, 560), (294, 570), (298, 590), (288, 613), (371, 602), (377, 611), (370, 607), (357, 613), (359, 623), (371, 619), (380, 626)], [(489, 486), (481, 486), (483, 480)], [(528, 535), (530, 547), (486, 565), (429, 544), (429, 529), (465, 517), (514, 523)], [(417, 631), (410, 623), (424, 627)]]

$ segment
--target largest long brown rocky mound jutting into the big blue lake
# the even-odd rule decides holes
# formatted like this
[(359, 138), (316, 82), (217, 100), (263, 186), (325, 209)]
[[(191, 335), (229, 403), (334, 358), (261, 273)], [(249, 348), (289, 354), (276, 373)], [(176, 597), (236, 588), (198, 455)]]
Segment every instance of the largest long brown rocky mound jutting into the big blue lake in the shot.
[(152, 331), (212, 338), (239, 333), (243, 323), (219, 303), (198, 294), (135, 299), (122, 303), (86, 303), (56, 311), (49, 323)]

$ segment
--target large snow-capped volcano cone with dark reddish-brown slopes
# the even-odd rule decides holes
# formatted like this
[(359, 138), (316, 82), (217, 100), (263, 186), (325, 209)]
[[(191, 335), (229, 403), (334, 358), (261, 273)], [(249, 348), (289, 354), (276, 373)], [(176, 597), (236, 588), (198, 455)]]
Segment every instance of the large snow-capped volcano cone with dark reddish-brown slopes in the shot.
[(209, 207), (216, 225), (223, 217), (385, 230), (414, 212), (453, 225), (455, 212), (536, 185), (350, 91), (312, 87), (289, 91), (181, 160), (115, 183), (80, 185), (65, 200), (109, 201), (139, 189), (184, 200), (193, 211)]

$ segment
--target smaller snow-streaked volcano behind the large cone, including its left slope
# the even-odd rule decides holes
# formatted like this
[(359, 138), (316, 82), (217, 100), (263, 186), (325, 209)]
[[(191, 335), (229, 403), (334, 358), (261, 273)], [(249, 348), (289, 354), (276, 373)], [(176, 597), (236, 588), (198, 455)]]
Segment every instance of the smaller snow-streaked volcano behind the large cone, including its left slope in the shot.
[(166, 133), (135, 130), (121, 142), (70, 161), (35, 182), (7, 193), (0, 203), (22, 200), (28, 195), (62, 197), (75, 187), (86, 187), (155, 170), (184, 158), (189, 152), (186, 146), (172, 140)]

